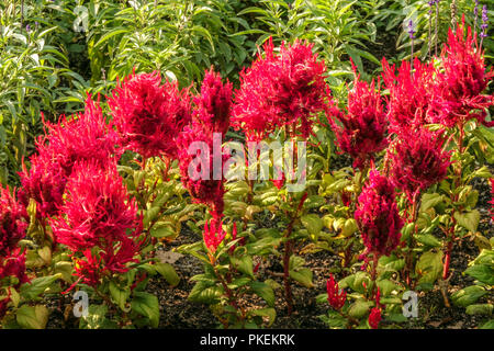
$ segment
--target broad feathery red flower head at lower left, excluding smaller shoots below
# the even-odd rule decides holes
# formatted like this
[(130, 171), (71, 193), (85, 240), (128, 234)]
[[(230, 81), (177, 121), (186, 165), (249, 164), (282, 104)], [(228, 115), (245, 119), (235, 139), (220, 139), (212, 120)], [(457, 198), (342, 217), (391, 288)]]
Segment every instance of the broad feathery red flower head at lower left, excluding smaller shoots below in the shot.
[(52, 226), (58, 241), (74, 251), (120, 241), (127, 229), (138, 227), (137, 204), (115, 165), (104, 169), (92, 162), (78, 165), (66, 194), (63, 215)]

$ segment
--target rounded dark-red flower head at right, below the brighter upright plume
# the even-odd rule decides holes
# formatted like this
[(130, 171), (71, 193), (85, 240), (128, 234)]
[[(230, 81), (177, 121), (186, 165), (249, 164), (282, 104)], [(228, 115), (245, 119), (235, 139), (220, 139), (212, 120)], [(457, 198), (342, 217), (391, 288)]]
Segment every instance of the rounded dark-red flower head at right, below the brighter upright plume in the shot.
[(403, 133), (388, 149), (390, 178), (411, 201), (416, 192), (426, 190), (447, 176), (451, 151), (444, 150), (444, 144), (442, 132), (423, 127)]

